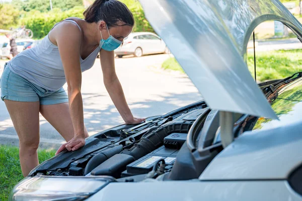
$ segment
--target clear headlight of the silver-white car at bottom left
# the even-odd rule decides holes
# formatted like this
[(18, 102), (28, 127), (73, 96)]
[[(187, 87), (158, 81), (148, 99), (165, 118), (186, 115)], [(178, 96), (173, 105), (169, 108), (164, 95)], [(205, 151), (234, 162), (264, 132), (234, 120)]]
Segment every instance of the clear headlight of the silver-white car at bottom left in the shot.
[(99, 191), (107, 183), (108, 181), (101, 178), (27, 177), (15, 186), (9, 200), (79, 201)]

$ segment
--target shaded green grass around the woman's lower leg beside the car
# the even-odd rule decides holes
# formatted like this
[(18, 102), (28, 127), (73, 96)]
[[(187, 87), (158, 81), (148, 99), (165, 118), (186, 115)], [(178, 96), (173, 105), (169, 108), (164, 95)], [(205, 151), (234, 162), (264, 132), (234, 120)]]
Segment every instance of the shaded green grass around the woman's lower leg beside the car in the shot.
[[(55, 150), (39, 150), (39, 162), (53, 157)], [(19, 148), (0, 146), (0, 200), (8, 200), (13, 187), (23, 179), (20, 168)]]

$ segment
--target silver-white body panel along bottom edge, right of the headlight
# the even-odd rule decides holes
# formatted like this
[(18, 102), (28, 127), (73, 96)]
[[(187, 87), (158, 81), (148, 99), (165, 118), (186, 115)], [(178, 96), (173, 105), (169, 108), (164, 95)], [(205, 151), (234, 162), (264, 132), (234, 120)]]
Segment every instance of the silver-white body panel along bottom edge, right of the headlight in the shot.
[[(118, 191), (118, 193), (116, 193)], [(119, 200), (302, 200), (287, 181), (157, 181), (109, 183), (86, 199)]]

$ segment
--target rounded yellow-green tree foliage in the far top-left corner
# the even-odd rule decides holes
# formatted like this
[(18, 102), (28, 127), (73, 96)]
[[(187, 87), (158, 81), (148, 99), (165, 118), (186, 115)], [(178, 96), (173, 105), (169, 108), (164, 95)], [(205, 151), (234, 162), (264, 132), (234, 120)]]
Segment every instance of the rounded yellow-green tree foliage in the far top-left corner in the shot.
[(9, 29), (17, 25), (20, 13), (12, 5), (0, 6), (0, 29)]

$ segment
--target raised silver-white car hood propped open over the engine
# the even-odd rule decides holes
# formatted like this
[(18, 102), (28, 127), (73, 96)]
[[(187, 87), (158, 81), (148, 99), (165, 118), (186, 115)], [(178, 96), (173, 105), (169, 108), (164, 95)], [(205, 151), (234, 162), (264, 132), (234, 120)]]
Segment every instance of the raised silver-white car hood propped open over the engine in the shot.
[(281, 21), (301, 36), (301, 24), (279, 1), (139, 1), (212, 109), (277, 118), (244, 60), (253, 30), (264, 21)]

